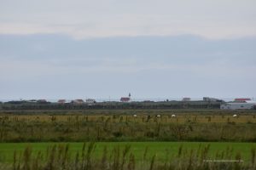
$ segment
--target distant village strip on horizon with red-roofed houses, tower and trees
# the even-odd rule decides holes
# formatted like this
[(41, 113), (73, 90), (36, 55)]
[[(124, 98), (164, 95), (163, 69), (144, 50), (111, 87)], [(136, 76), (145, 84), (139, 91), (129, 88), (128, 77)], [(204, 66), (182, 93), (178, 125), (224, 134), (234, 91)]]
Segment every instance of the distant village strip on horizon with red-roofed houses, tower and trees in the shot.
[[(253, 110), (256, 109), (256, 101), (250, 98), (236, 98), (231, 101), (224, 99), (215, 99), (211, 97), (203, 97), (202, 99), (191, 99), (184, 97), (183, 99), (162, 99), (162, 100), (137, 100), (132, 99), (129, 93), (125, 97), (120, 97), (119, 100), (103, 100), (96, 99), (58, 99), (49, 101), (47, 99), (20, 99), (0, 101), (0, 109), (35, 109), (35, 108), (51, 108), (54, 109), (86, 109), (86, 108), (173, 108), (173, 109), (220, 109), (220, 110)], [(39, 107), (37, 107), (39, 105)], [(48, 105), (48, 106), (47, 106)], [(56, 106), (57, 105), (57, 106)], [(125, 106), (124, 106), (125, 105)], [(128, 106), (127, 106), (128, 105)], [(109, 107), (108, 107), (109, 106)]]

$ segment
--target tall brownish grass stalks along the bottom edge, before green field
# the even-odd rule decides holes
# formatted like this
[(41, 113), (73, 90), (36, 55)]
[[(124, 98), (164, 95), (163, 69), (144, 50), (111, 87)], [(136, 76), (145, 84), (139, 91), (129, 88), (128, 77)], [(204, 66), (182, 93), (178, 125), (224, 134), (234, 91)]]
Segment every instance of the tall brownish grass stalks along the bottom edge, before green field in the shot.
[[(131, 145), (125, 145), (122, 149), (117, 145), (113, 150), (108, 150), (106, 146), (100, 157), (96, 156), (95, 148), (95, 143), (84, 144), (81, 150), (72, 155), (69, 144), (52, 145), (44, 154), (41, 151), (32, 152), (32, 148), (28, 146), (20, 155), (14, 152), (12, 166), (3, 164), (2, 167), (4, 166), (6, 170), (253, 170), (256, 168), (255, 149), (252, 149), (251, 161), (243, 162), (240, 153), (232, 157), (233, 151), (230, 148), (223, 150), (221, 152), (223, 154), (210, 156), (210, 145), (200, 146), (197, 150), (186, 150), (181, 145), (176, 156), (164, 161), (158, 160), (157, 155), (147, 159), (147, 147), (143, 152), (143, 161), (136, 159)], [(235, 162), (227, 162), (229, 160)]]

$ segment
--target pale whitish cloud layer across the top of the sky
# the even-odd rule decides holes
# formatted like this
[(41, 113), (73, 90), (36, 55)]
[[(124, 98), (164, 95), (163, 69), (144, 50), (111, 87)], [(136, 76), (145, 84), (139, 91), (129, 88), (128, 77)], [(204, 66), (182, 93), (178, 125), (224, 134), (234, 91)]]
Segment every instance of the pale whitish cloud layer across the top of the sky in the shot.
[(194, 34), (211, 39), (256, 36), (255, 1), (4, 2), (0, 34), (95, 37)]

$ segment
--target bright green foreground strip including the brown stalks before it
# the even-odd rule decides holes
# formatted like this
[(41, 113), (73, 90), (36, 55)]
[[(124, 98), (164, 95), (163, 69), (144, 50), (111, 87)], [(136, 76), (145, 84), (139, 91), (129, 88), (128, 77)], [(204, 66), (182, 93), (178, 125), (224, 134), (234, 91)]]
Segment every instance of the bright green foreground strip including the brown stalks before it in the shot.
[(197, 142), (6, 143), (0, 144), (0, 169), (256, 169), (254, 146), (253, 143)]

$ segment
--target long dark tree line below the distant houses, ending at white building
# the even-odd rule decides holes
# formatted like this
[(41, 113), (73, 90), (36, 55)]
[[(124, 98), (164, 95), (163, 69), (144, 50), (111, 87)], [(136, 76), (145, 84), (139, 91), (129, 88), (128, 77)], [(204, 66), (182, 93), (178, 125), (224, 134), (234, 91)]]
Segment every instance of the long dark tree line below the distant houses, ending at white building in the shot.
[(84, 110), (84, 109), (219, 109), (219, 102), (102, 102), (88, 104), (56, 104), (56, 103), (4, 103), (0, 104), (1, 110)]

